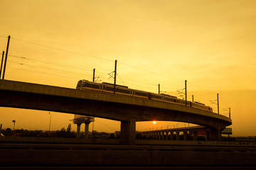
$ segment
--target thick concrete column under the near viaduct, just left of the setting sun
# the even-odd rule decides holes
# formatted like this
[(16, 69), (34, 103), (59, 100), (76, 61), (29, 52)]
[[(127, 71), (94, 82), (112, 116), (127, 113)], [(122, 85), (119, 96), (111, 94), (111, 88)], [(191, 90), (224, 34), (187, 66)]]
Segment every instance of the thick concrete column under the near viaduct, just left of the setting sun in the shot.
[(121, 145), (135, 145), (136, 122), (135, 120), (121, 121)]

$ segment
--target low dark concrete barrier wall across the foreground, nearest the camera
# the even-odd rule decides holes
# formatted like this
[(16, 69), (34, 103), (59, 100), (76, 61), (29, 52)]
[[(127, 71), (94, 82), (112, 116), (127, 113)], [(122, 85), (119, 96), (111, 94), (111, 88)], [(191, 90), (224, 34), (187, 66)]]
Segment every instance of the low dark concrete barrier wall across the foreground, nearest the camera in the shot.
[(256, 153), (114, 150), (1, 150), (1, 166), (256, 166)]

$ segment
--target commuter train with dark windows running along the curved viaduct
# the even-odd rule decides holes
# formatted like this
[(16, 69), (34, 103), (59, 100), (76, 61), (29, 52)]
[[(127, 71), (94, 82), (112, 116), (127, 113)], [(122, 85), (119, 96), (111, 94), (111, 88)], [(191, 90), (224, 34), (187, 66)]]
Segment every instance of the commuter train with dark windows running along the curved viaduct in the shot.
[[(78, 85), (76, 89), (80, 90), (92, 90), (92, 91), (102, 91), (105, 93), (114, 93), (114, 84), (110, 83), (95, 83), (87, 80), (80, 80), (78, 81)], [(126, 96), (134, 96), (134, 97), (139, 97), (139, 98), (148, 98), (149, 100), (154, 100), (154, 101), (164, 101), (168, 103), (176, 103), (178, 105), (183, 105), (186, 106), (186, 101), (181, 100), (177, 98), (176, 96), (170, 96), (167, 94), (154, 94), (146, 91), (139, 91), (139, 90), (134, 90), (134, 89), (129, 89), (128, 86), (122, 86), (122, 85), (117, 85), (116, 84), (116, 94), (122, 94)], [(199, 108), (201, 110), (205, 111), (210, 111), (213, 112), (213, 108), (210, 106), (205, 106), (203, 103), (198, 103), (198, 102), (191, 102), (187, 101), (187, 106), (191, 108)]]

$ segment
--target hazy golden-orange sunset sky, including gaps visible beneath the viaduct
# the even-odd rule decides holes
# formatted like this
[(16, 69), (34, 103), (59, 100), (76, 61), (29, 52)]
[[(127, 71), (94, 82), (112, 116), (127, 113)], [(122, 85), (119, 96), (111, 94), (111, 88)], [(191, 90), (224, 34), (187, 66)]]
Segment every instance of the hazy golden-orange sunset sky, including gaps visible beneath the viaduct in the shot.
[[(234, 135), (256, 135), (256, 1), (252, 0), (0, 0), (0, 51), (11, 35), (5, 79), (75, 88), (80, 79), (109, 79), (117, 60), (118, 84), (169, 91), (210, 105), (231, 107)], [(24, 58), (26, 57), (26, 58)], [(216, 105), (210, 105), (216, 110)], [(48, 128), (47, 111), (0, 108), (11, 128)], [(73, 115), (52, 113), (53, 129)], [(119, 130), (96, 119), (95, 130)], [(176, 123), (158, 123), (165, 128)], [(151, 123), (138, 123), (137, 130)], [(184, 126), (179, 123), (178, 126)], [(105, 128), (103, 128), (105, 127)], [(106, 129), (106, 127), (108, 127)], [(75, 125), (73, 125), (75, 129)]]

